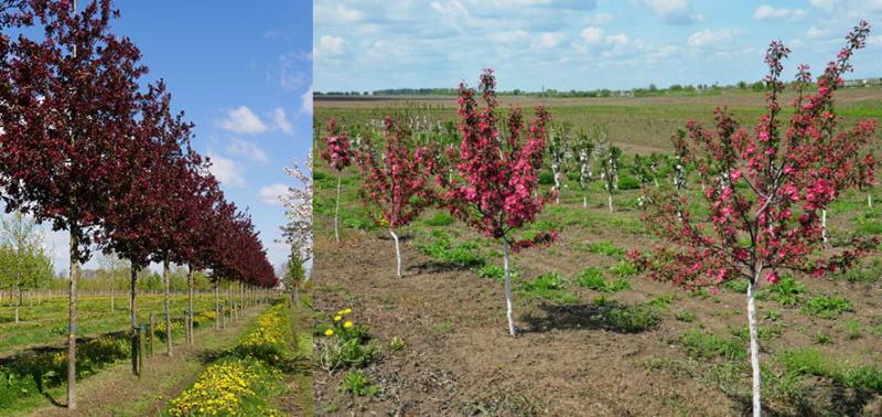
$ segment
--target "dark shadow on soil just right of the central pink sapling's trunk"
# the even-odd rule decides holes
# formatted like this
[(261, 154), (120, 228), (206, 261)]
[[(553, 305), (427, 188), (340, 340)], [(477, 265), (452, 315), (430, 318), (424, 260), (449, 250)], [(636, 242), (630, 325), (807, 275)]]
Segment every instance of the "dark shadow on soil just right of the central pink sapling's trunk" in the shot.
[(523, 333), (545, 333), (552, 330), (607, 330), (617, 333), (639, 333), (653, 330), (660, 321), (647, 306), (607, 302), (539, 306), (540, 314), (528, 313), (523, 321), (529, 327)]

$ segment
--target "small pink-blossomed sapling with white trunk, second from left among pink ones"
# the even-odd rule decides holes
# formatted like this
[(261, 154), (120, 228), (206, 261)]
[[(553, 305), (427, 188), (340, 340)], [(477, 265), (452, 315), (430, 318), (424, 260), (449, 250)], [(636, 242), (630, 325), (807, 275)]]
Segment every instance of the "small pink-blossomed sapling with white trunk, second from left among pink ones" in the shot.
[(366, 136), (355, 153), (362, 171), (362, 199), (374, 223), (389, 228), (395, 240), (397, 276), (401, 278), (401, 247), (396, 229), (406, 226), (432, 203), (429, 189), (429, 151), (415, 147), (405, 128), (386, 117), (385, 143), (378, 146)]

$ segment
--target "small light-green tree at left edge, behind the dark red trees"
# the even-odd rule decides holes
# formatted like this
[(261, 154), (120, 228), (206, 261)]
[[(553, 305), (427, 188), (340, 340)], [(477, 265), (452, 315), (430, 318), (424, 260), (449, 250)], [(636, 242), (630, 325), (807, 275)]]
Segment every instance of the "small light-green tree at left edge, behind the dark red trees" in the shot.
[(44, 287), (52, 279), (52, 260), (43, 249), (43, 234), (21, 212), (0, 220), (0, 288), (15, 291), (14, 320), (19, 323), (22, 290)]

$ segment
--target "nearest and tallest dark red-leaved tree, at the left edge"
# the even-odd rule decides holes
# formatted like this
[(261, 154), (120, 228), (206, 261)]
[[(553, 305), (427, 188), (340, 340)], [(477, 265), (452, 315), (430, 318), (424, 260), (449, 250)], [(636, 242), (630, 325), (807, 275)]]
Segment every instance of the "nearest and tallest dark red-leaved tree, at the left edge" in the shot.
[[(24, 30), (0, 62), (0, 188), (7, 210), (71, 234), (67, 407), (76, 408), (79, 265), (118, 180), (119, 145), (133, 122), (135, 94), (146, 68), (140, 52), (114, 35), (110, 0), (22, 3)], [(36, 39), (29, 34), (40, 33)]]

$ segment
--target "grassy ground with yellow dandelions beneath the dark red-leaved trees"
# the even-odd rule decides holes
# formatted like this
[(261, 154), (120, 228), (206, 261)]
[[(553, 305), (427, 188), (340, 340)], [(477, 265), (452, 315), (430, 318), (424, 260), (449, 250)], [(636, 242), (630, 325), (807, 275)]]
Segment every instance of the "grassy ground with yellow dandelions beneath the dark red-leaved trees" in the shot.
[[(115, 296), (114, 311), (107, 291), (86, 292), (79, 299), (83, 325), (77, 363), (83, 408), (73, 414), (58, 407), (65, 388), (62, 376), (66, 296), (44, 295), (36, 299), (34, 295), (33, 303), (25, 299), (18, 324), (9, 319), (11, 302), (0, 303), (2, 414), (178, 416), (226, 410), (304, 415), (311, 409), (312, 376), (306, 364), (312, 339), (302, 330), (309, 328), (311, 318), (309, 299), (299, 299), (291, 307), (278, 292), (249, 291), (244, 298), (238, 291), (233, 298), (223, 293), (224, 318), (215, 323), (214, 293), (197, 292), (191, 345), (184, 328), (187, 296), (174, 293), (171, 297), (174, 354), (168, 356), (163, 295), (142, 293), (138, 300), (138, 322), (144, 323), (143, 359), (140, 375), (132, 375), (126, 296)], [(155, 322), (152, 343), (148, 324), (151, 314)], [(227, 376), (250, 375), (247, 391), (225, 385), (223, 378), (213, 375), (217, 370)], [(206, 394), (193, 389), (200, 381), (213, 391)], [(224, 402), (227, 408), (213, 408), (217, 405), (208, 402), (206, 395), (227, 398)]]

